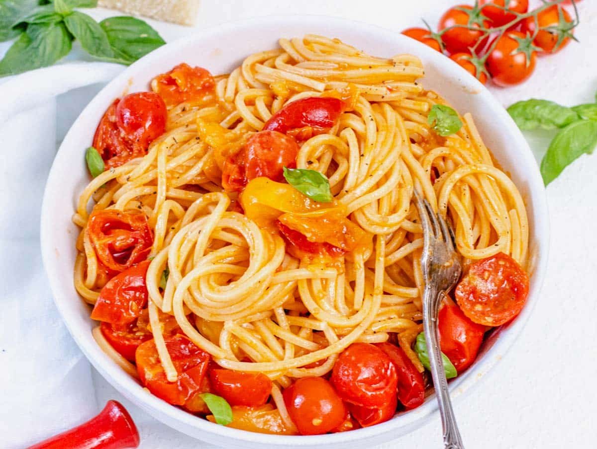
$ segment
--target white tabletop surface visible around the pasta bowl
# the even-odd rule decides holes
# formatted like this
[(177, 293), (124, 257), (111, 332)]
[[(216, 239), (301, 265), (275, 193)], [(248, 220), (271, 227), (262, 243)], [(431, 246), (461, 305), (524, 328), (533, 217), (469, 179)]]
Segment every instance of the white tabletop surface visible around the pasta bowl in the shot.
[[(534, 76), (521, 86), (491, 88), (504, 106), (530, 97), (568, 105), (594, 100), (597, 91), (597, 5), (594, 1), (584, 0), (579, 5), (581, 25), (576, 35), (581, 44), (570, 44), (559, 54), (540, 58)], [(340, 16), (399, 32), (404, 27), (420, 23), (420, 17), (435, 24), (441, 13), (455, 3), (455, 0), (204, 0), (196, 28), (284, 13)], [(272, 4), (275, 7), (272, 8)], [(106, 10), (90, 13), (98, 19), (114, 14)], [(166, 41), (193, 32), (188, 27), (149, 22)], [(325, 34), (325, 30), (314, 31)], [(0, 53), (1, 50), (2, 47)], [(70, 58), (85, 57), (75, 51)], [(74, 95), (90, 97), (98, 89), (97, 86), (80, 89)], [(69, 104), (67, 98), (59, 99), (59, 141), (79, 112), (78, 107), (69, 107)], [(536, 156), (541, 157), (549, 141), (547, 138), (547, 135), (530, 137)], [(541, 301), (509, 354), (474, 391), (454, 404), (468, 448), (597, 447), (594, 422), (597, 393), (592, 388), (597, 377), (596, 175), (597, 154), (583, 156), (547, 189), (552, 243)], [(38, 252), (38, 248), (32, 248), (32, 253)], [(44, 279), (36, 281), (43, 282)], [(125, 400), (94, 370), (91, 370), (91, 381), (98, 407), (108, 399), (116, 399), (131, 412), (141, 433), (141, 448), (212, 447), (152, 419)], [(439, 419), (375, 449), (398, 447), (441, 447)]]

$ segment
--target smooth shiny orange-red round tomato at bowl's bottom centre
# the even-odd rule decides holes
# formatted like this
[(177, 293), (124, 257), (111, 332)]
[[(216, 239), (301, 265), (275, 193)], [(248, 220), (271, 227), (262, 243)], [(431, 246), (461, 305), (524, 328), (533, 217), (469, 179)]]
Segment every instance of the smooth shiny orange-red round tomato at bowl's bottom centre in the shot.
[(303, 377), (284, 390), (288, 414), (302, 435), (321, 435), (340, 426), (344, 403), (323, 377)]

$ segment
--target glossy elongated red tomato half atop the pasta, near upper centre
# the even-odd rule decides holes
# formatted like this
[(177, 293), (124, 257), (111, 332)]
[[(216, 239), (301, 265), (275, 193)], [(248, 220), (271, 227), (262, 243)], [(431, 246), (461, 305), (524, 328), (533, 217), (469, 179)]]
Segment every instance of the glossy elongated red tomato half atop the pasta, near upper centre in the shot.
[(309, 97), (285, 104), (263, 125), (263, 129), (278, 131), (307, 140), (330, 131), (342, 113), (343, 103), (333, 97)]

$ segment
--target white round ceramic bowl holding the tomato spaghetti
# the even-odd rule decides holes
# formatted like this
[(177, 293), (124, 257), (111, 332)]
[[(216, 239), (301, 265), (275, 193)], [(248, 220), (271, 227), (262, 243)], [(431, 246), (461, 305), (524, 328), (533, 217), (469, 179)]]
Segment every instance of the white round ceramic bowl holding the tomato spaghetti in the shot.
[[(224, 447), (254, 448), (344, 448), (372, 447), (404, 435), (436, 416), (435, 397), (421, 407), (370, 428), (319, 436), (264, 435), (229, 429), (186, 413), (145, 391), (107, 355), (91, 336), (96, 324), (90, 309), (73, 287), (75, 238), (78, 228), (70, 218), (76, 199), (89, 181), (84, 150), (93, 138), (100, 117), (113, 99), (124, 91), (147, 90), (149, 80), (184, 61), (206, 67), (212, 73), (230, 72), (254, 52), (275, 48), (278, 38), (318, 33), (340, 38), (372, 55), (389, 57), (398, 53), (417, 55), (423, 61), (427, 88), (438, 91), (461, 113), (475, 117), (485, 143), (509, 172), (528, 208), (534, 270), (527, 305), (507, 328), (495, 332), (485, 343), (478, 360), (450, 383), (451, 395), (459, 397), (481, 379), (505, 354), (521, 331), (533, 305), (547, 263), (549, 224), (543, 182), (527, 142), (506, 111), (490, 92), (449, 58), (398, 32), (339, 18), (318, 16), (265, 17), (223, 24), (180, 39), (134, 63), (109, 83), (81, 113), (58, 151), (45, 190), (41, 218), (41, 245), (54, 301), (81, 350), (94, 367), (119, 392), (161, 422), (187, 435)], [(477, 390), (476, 394), (482, 394)]]

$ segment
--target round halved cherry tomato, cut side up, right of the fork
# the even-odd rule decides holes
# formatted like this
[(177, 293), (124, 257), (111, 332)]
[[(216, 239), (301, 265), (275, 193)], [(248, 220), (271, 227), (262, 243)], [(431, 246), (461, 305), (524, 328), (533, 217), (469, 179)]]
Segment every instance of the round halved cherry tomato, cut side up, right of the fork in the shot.
[(504, 253), (473, 262), (454, 292), (464, 315), (478, 324), (500, 326), (527, 301), (528, 276)]

